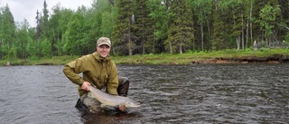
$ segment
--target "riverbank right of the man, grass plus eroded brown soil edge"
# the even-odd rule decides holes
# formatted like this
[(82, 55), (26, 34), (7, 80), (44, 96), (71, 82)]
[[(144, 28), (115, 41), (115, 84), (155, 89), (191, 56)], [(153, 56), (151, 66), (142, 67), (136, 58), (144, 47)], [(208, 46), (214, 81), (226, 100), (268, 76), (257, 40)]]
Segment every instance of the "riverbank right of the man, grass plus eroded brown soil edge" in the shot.
[(114, 57), (123, 64), (289, 63), (289, 49), (224, 50)]

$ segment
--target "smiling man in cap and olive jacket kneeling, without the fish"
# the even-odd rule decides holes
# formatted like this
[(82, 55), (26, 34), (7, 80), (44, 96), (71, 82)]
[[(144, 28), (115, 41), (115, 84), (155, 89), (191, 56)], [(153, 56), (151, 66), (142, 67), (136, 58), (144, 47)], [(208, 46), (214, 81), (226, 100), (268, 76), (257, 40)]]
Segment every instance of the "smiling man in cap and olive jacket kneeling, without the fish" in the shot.
[[(100, 37), (97, 42), (97, 52), (84, 55), (73, 62), (67, 63), (64, 74), (75, 84), (79, 85), (79, 100), (76, 108), (79, 110), (100, 110), (100, 103), (88, 97), (89, 86), (94, 86), (108, 94), (126, 97), (129, 81), (126, 77), (117, 76), (117, 65), (109, 56), (111, 43), (109, 38)], [(82, 73), (82, 77), (79, 76)], [(126, 110), (125, 106), (118, 108)]]

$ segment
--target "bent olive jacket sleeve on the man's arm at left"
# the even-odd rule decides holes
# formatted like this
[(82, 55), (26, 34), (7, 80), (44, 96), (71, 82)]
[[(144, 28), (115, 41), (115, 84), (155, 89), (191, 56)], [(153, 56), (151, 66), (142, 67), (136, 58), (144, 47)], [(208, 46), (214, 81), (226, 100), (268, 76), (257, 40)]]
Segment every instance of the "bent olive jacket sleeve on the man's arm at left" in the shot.
[(82, 61), (79, 59), (69, 62), (63, 67), (63, 73), (65, 76), (79, 86), (83, 83), (83, 79), (79, 76), (80, 72), (84, 72), (84, 69), (82, 68)]

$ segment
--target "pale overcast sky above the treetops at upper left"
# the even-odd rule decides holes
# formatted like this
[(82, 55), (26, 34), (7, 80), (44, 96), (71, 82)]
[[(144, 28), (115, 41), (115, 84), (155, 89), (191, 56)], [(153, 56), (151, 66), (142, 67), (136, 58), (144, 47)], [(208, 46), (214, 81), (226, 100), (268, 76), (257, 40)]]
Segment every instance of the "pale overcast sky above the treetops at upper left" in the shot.
[[(61, 7), (76, 10), (79, 6), (90, 6), (93, 0), (46, 0), (47, 8), (51, 14), (51, 8), (57, 4)], [(0, 7), (8, 4), (15, 22), (23, 22), (24, 18), (31, 26), (35, 26), (36, 11), (42, 12), (44, 0), (0, 0)]]

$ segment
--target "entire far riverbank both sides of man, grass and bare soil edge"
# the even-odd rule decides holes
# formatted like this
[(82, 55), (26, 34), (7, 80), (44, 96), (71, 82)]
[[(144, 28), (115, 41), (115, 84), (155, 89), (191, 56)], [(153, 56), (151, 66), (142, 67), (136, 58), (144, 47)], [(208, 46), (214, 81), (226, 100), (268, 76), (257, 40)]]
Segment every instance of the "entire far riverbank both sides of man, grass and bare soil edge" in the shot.
[[(0, 65), (63, 65), (79, 56), (55, 56), (42, 59), (1, 60)], [(216, 52), (161, 53), (112, 56), (117, 64), (204, 64), (204, 63), (289, 63), (289, 49), (224, 50)]]

